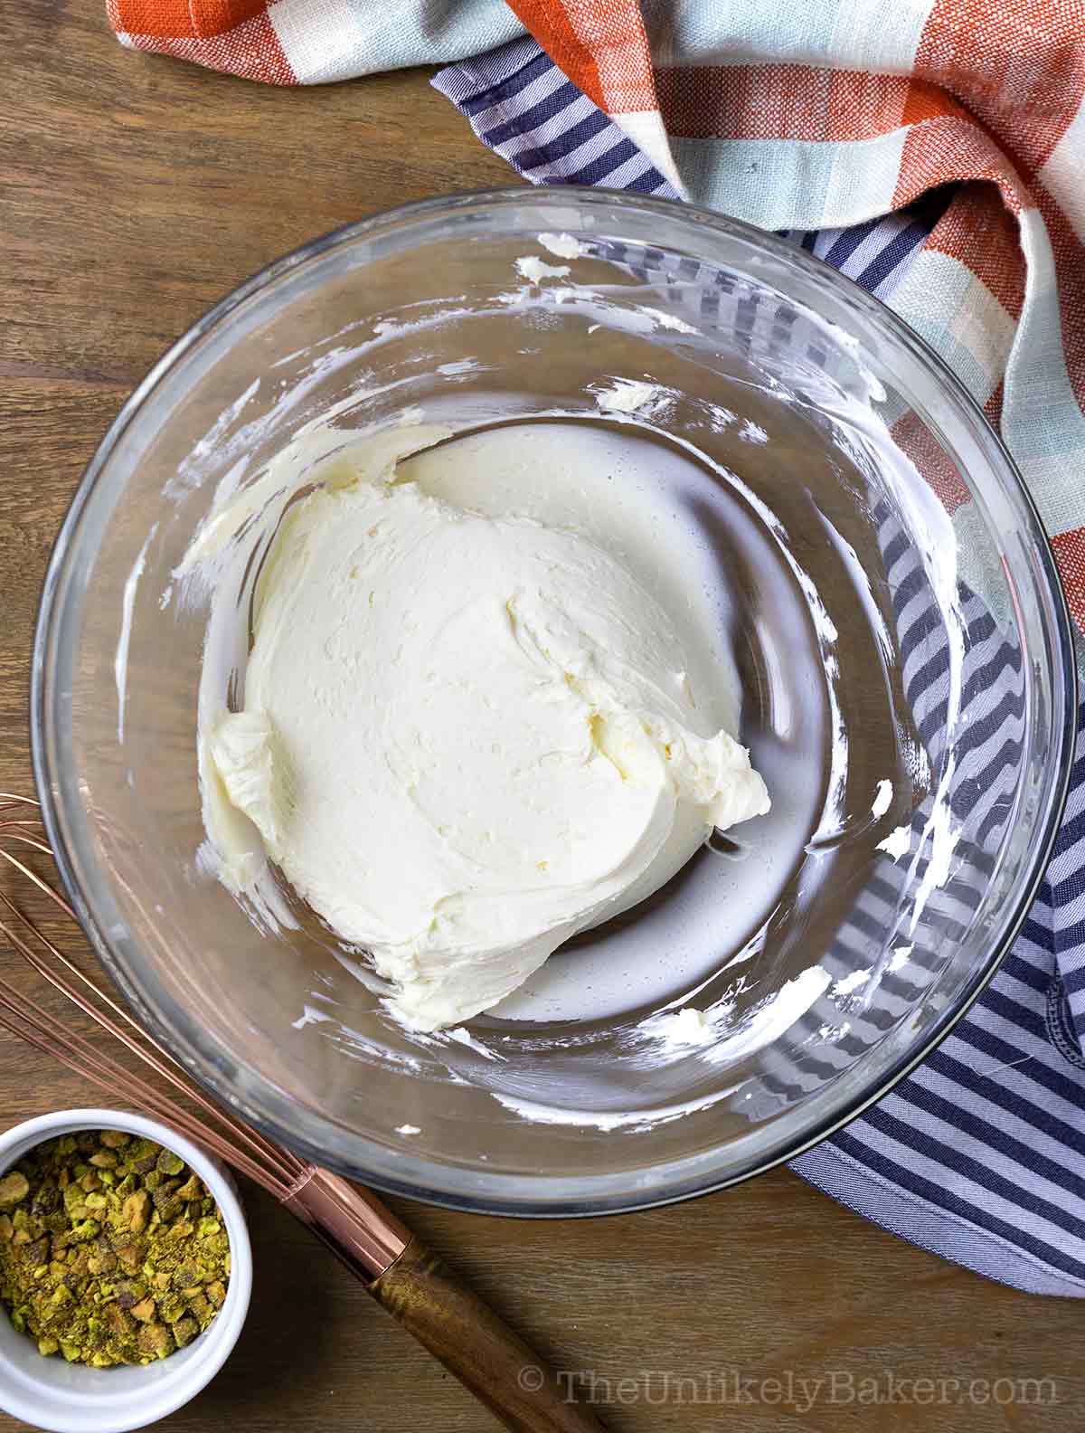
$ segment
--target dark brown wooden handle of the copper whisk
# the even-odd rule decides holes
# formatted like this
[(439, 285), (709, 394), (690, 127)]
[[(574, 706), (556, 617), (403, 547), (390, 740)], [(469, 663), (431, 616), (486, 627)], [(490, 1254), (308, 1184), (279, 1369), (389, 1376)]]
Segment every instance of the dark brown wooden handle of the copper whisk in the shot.
[(368, 1287), (514, 1433), (600, 1433), (595, 1414), (418, 1238)]

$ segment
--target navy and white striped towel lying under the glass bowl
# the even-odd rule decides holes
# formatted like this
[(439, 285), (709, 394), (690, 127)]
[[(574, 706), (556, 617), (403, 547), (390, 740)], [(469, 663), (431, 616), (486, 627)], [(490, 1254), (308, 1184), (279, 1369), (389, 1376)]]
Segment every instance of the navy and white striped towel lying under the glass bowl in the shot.
[[(445, 69), (434, 85), (532, 183), (677, 198), (530, 39)], [(946, 203), (948, 193), (933, 191), (885, 219), (789, 236), (889, 298)], [(908, 562), (900, 546), (886, 532), (890, 586), (903, 580), (895, 572)], [(1009, 649), (970, 602), (968, 759), (982, 791), (1013, 759), (1018, 696)], [(929, 674), (939, 662), (906, 645), (905, 681), (922, 716), (938, 699), (939, 675)], [(1085, 1295), (1085, 708), (1081, 729), (1048, 877), (993, 982), (918, 1070), (792, 1165), (923, 1248), (1018, 1288), (1064, 1295)]]

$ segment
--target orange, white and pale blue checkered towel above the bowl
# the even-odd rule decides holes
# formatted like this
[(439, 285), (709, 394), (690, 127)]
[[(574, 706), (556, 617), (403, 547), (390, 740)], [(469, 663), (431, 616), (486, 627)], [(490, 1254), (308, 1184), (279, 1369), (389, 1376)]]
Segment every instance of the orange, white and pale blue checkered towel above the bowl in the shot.
[[(547, 133), (554, 86), (521, 86), (520, 122), (495, 148), (517, 163), (527, 145), (528, 178), (621, 182), (598, 163), (555, 173), (548, 162), (547, 143), (594, 153), (594, 113), (678, 193), (769, 229), (856, 225), (963, 181), (887, 301), (1001, 426), (1085, 631), (1085, 0), (107, 0), (107, 11), (123, 44), (278, 85), (484, 59), (518, 37), (530, 46), (527, 30), (587, 107)], [(438, 85), (457, 99), (454, 82)]]

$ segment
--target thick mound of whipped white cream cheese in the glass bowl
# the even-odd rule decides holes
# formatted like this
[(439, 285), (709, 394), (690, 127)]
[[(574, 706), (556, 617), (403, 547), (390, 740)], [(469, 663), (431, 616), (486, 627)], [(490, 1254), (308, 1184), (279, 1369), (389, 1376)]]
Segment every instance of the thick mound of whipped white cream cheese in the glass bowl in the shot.
[(590, 434), (540, 427), (525, 466), (524, 433), (354, 477), (336, 454), (263, 562), (243, 705), (200, 732), (268, 857), (422, 1030), (769, 810), (677, 549), (600, 512)]

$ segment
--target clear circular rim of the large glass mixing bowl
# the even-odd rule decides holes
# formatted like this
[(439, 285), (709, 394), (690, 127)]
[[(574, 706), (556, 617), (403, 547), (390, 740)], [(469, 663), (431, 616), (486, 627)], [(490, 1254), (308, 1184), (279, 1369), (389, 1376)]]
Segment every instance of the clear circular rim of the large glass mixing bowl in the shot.
[[(80, 517), (102, 473), (107, 467), (112, 453), (122, 441), (129, 426), (137, 417), (140, 408), (155, 388), (182, 361), (190, 348), (193, 348), (216, 325), (225, 322), (239, 305), (246, 302), (253, 295), (271, 288), (302, 264), (341, 246), (349, 246), (358, 239), (372, 236), (381, 231), (394, 231), (396, 226), (402, 226), (409, 231), (412, 224), (432, 221), (434, 218), (439, 218), (442, 214), (452, 218), (457, 212), (471, 209), (472, 206), (491, 206), (498, 209), (527, 205), (545, 209), (547, 205), (553, 205), (555, 209), (560, 209), (563, 205), (568, 208), (570, 202), (588, 209), (628, 208), (638, 209), (641, 212), (647, 211), (648, 214), (658, 215), (661, 222), (686, 225), (690, 232), (690, 238), (693, 238), (693, 232), (697, 226), (707, 226), (717, 234), (737, 238), (754, 248), (760, 248), (783, 261), (784, 265), (790, 265), (792, 268), (804, 272), (807, 277), (816, 278), (819, 282), (827, 285), (830, 291), (835, 291), (837, 298), (857, 310), (863, 318), (873, 325), (875, 331), (880, 331), (883, 338), (909, 350), (912, 357), (930, 371), (942, 388), (942, 396), (958, 408), (959, 417), (969, 421), (973, 428), (973, 437), (985, 450), (992, 466), (1001, 466), (1005, 469), (1006, 476), (1011, 479), (1011, 489), (1021, 503), (1022, 526), (1029, 530), (1029, 535), (1035, 542), (1039, 565), (1042, 567), (1043, 577), (1046, 579), (1046, 596), (1049, 598), (1051, 612), (1054, 615), (1055, 631), (1054, 633), (1049, 633), (1049, 636), (1054, 639), (1052, 646), (1064, 674), (1062, 721), (1056, 724), (1056, 716), (1052, 716), (1052, 725), (1056, 725), (1056, 729), (1062, 732), (1062, 742), (1058, 754), (1058, 770), (1054, 772), (1048, 787), (1048, 808), (1042, 814), (1042, 820), (1038, 821), (1038, 840), (1033, 843), (1032, 858), (1022, 873), (1015, 898), (1006, 904), (1002, 931), (998, 940), (992, 941), (992, 949), (986, 960), (972, 973), (970, 982), (960, 990), (956, 1000), (948, 1005), (946, 1009), (943, 1009), (938, 1017), (930, 1022), (926, 1037), (915, 1049), (906, 1052), (882, 1075), (882, 1078), (872, 1080), (870, 1088), (865, 1089), (859, 1096), (850, 1101), (846, 1108), (833, 1112), (832, 1116), (826, 1119), (812, 1123), (810, 1128), (797, 1134), (796, 1138), (786, 1145), (777, 1145), (777, 1148), (770, 1151), (764, 1158), (750, 1159), (741, 1168), (731, 1169), (727, 1174), (723, 1174), (720, 1169), (713, 1171), (711, 1168), (707, 1168), (694, 1179), (677, 1176), (670, 1185), (654, 1185), (650, 1191), (646, 1191), (643, 1187), (637, 1187), (637, 1172), (630, 1169), (626, 1171), (628, 1189), (620, 1195), (607, 1194), (604, 1197), (600, 1197), (598, 1192), (593, 1192), (591, 1176), (560, 1176), (563, 1185), (567, 1187), (565, 1192), (555, 1194), (548, 1191), (544, 1199), (532, 1205), (530, 1198), (531, 1188), (532, 1185), (535, 1188), (544, 1185), (547, 1182), (545, 1175), (501, 1175), (488, 1171), (482, 1172), (480, 1169), (458, 1169), (419, 1156), (402, 1158), (396, 1161), (399, 1171), (414, 1169), (414, 1176), (407, 1176), (398, 1172), (392, 1174), (385, 1169), (371, 1171), (364, 1159), (355, 1162), (329, 1151), (326, 1144), (312, 1135), (299, 1135), (296, 1131), (289, 1128), (289, 1123), (285, 1119), (285, 1113), (291, 1108), (289, 1099), (282, 1095), (282, 1092), (279, 1092), (272, 1082), (249, 1070), (249, 1075), (258, 1083), (261, 1093), (265, 1095), (265, 1103), (261, 1106), (259, 1103), (240, 1099), (236, 1089), (230, 1086), (226, 1069), (228, 1065), (236, 1062), (235, 1058), (229, 1056), (225, 1062), (222, 1059), (216, 1060), (210, 1052), (202, 1049), (199, 1046), (199, 1040), (195, 1037), (198, 1026), (188, 1016), (188, 1012), (185, 1012), (175, 1002), (167, 999), (163, 1002), (167, 1007), (172, 1006), (172, 1009), (166, 1009), (165, 1015), (149, 1002), (139, 979), (133, 976), (132, 963), (127, 962), (117, 949), (115, 949), (106, 937), (100, 923), (96, 920), (76, 874), (76, 863), (64, 835), (64, 824), (60, 813), (64, 800), (63, 784), (60, 781), (63, 774), (64, 752), (60, 744), (62, 728), (59, 722), (59, 712), (56, 709), (56, 704), (50, 705), (49, 702), (50, 691), (56, 692), (56, 682), (50, 682), (49, 676), (53, 671), (52, 656), (57, 649), (57, 641), (60, 636), (60, 615), (63, 612), (60, 595), (64, 589), (64, 579), (70, 569), (73, 553), (77, 550), (76, 539)], [(542, 225), (540, 225), (540, 228), (542, 228)], [(107, 428), (94, 456), (87, 464), (57, 533), (49, 566), (46, 569), (34, 629), (30, 684), (30, 737), (34, 782), (42, 802), (43, 821), (49, 843), (52, 845), (64, 890), (87, 939), (92, 943), (92, 947), (139, 1019), (210, 1095), (213, 1095), (225, 1106), (238, 1111), (253, 1126), (262, 1129), (265, 1134), (281, 1141), (282, 1144), (289, 1145), (292, 1149), (306, 1158), (311, 1158), (313, 1162), (322, 1164), (326, 1168), (335, 1169), (336, 1172), (351, 1178), (361, 1179), (365, 1184), (371, 1184), (382, 1191), (471, 1212), (504, 1214), (517, 1218), (567, 1218), (656, 1208), (658, 1205), (674, 1204), (681, 1199), (710, 1194), (716, 1189), (740, 1184), (757, 1174), (764, 1174), (766, 1171), (796, 1158), (806, 1149), (820, 1144), (837, 1129), (850, 1123), (850, 1121), (853, 1121), (865, 1109), (882, 1099), (896, 1083), (909, 1075), (928, 1058), (928, 1055), (930, 1055), (933, 1049), (938, 1048), (953, 1026), (968, 1013), (969, 1007), (975, 1003), (993, 977), (1003, 957), (1013, 944), (1013, 940), (1028, 916), (1036, 890), (1043, 878), (1043, 873), (1062, 821), (1062, 813), (1069, 790), (1078, 718), (1076, 689), (1076, 659), (1072, 638), (1072, 619), (1069, 616), (1054, 552), (1043, 530), (1036, 506), (1025, 487), (1023, 479), (1021, 477), (1013, 459), (1005, 449), (999, 434), (988, 423), (981, 407), (953, 371), (925, 342), (925, 340), (915, 332), (915, 330), (886, 308), (886, 305), (877, 298), (860, 288), (853, 279), (832, 268), (824, 261), (809, 254), (806, 249), (802, 249), (799, 245), (794, 245), (790, 241), (767, 231), (757, 229), (741, 219), (734, 219), (711, 209), (674, 199), (658, 199), (621, 189), (565, 185), (554, 189), (502, 188), (488, 191), (462, 191), (451, 195), (441, 195), (432, 199), (421, 199), (412, 203), (398, 205), (394, 209), (384, 209), (365, 219), (344, 225), (342, 228), (321, 235), (282, 258), (275, 259), (252, 278), (245, 279), (213, 308), (208, 310), (206, 314), (203, 314), (175, 344), (166, 350), (166, 353), (133, 390), (120, 408), (117, 417)], [(56, 759), (53, 757), (54, 751), (59, 752)], [(90, 861), (89, 864), (93, 866), (94, 863)], [(192, 1036), (183, 1033), (185, 1026), (189, 1027)], [(273, 1109), (266, 1108), (269, 1103), (275, 1105), (276, 1102), (282, 1106), (282, 1113), (276, 1113)], [(308, 1113), (309, 1112), (306, 1112), (306, 1116)], [(329, 1136), (334, 1136), (336, 1132), (341, 1134), (341, 1126), (334, 1121), (325, 1119), (322, 1123)], [(374, 1151), (379, 1151), (381, 1148), (376, 1142), (369, 1141), (365, 1136), (352, 1135), (351, 1138), (359, 1148), (372, 1148)], [(427, 1182), (427, 1171), (441, 1171), (444, 1176), (441, 1188), (435, 1188), (432, 1182)], [(452, 1178), (449, 1178), (449, 1175)], [(457, 1179), (455, 1176), (459, 1178)], [(454, 1187), (457, 1184), (458, 1188)]]

